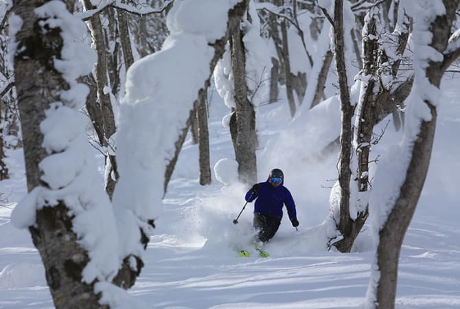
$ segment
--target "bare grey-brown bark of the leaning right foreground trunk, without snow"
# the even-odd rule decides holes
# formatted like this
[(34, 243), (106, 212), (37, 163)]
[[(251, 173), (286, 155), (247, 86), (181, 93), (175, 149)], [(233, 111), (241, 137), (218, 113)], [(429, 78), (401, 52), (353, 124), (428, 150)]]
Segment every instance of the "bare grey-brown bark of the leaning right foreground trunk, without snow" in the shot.
[[(433, 34), (429, 46), (439, 53), (443, 53), (448, 45), (452, 21), (455, 19), (455, 11), (459, 7), (459, 2), (459, 0), (443, 0), (446, 13), (437, 15), (429, 30), (422, 29)], [(414, 52), (415, 55), (417, 55), (417, 52)], [(444, 67), (446, 56), (444, 60), (439, 62), (429, 59), (426, 59), (426, 61), (428, 62), (428, 67), (425, 69), (425, 76), (417, 76), (416, 71), (415, 78), (428, 78), (430, 84), (439, 89), (441, 78), (446, 69)], [(437, 102), (424, 100), (423, 103), (419, 104), (426, 104), (430, 110), (431, 119), (428, 121), (419, 120), (419, 133), (413, 140), (411, 159), (399, 196), (396, 198), (391, 213), (378, 233), (380, 242), (377, 248), (377, 267), (380, 270), (380, 275), (378, 275), (375, 282), (376, 302), (373, 308), (393, 309), (395, 307), (398, 262), (402, 241), (411, 223), (415, 207), (417, 207), (430, 164), (435, 137)]]

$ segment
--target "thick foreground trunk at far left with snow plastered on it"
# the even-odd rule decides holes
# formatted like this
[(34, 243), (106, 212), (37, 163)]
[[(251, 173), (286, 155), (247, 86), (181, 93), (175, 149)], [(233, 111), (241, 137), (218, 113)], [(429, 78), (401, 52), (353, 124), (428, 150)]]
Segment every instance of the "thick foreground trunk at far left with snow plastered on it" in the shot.
[(95, 284), (117, 273), (117, 231), (78, 111), (88, 91), (76, 78), (91, 71), (95, 57), (78, 43), (87, 30), (67, 10), (73, 4), (15, 3), (14, 69), (30, 193), (12, 222), (29, 227), (56, 308), (107, 308)]

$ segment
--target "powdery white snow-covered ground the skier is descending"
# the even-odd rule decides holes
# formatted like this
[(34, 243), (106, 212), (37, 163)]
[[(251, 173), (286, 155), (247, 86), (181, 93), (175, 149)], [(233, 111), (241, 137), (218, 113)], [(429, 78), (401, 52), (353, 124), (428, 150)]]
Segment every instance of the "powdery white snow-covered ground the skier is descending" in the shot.
[[(460, 308), (457, 86), (458, 79), (449, 76), (442, 84), (430, 170), (400, 256), (396, 308)], [(229, 111), (216, 93), (212, 98), (209, 136), (214, 167), (220, 159), (234, 155), (229, 130), (221, 124)], [(299, 116), (296, 121), (305, 119)], [(271, 256), (259, 258), (250, 246), (253, 205), (246, 206), (238, 225), (232, 224), (249, 187), (224, 186), (216, 181), (214, 171), (212, 185), (200, 186), (197, 146), (187, 138), (155, 222), (146, 266), (130, 290), (132, 308), (362, 308), (373, 258), (367, 227), (354, 253), (326, 250), (327, 227), (322, 223), (329, 215), (336, 155), (321, 162), (301, 156), (314, 152), (317, 143), (296, 131), (299, 124), (289, 122), (286, 102), (257, 109), (258, 174), (259, 181), (264, 181), (272, 168), (284, 170), (285, 185), (297, 203), (299, 231), (285, 216), (279, 232), (266, 245)], [(321, 119), (320, 124), (336, 130), (333, 117)], [(310, 126), (309, 132), (314, 129)], [(400, 133), (393, 131), (389, 124), (374, 153), (399, 140)], [(10, 224), (12, 207), (25, 194), (21, 155), (10, 154), (14, 177), (0, 183), (5, 200), (0, 206), (0, 308), (53, 308), (30, 234)], [(222, 172), (231, 174), (229, 168)], [(253, 253), (250, 258), (237, 255), (236, 249), (242, 248)]]

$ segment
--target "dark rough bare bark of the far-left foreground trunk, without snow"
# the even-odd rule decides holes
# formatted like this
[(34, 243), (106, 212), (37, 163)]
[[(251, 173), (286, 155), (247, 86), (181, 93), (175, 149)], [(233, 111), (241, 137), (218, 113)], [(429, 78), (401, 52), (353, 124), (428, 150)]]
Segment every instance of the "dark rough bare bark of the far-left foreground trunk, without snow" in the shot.
[[(62, 38), (60, 28), (39, 26), (34, 9), (43, 1), (16, 1), (15, 13), (23, 20), (16, 34), (18, 43), (14, 58), (16, 91), (24, 141), (27, 190), (47, 187), (41, 180), (38, 167), (48, 156), (42, 147), (43, 133), (40, 124), (45, 110), (54, 102), (60, 102), (60, 93), (69, 84), (54, 68), (54, 60), (60, 59)], [(67, 1), (73, 8), (73, 1)], [(43, 20), (43, 19), (41, 19)], [(43, 26), (46, 27), (46, 26)], [(89, 261), (76, 233), (72, 230), (72, 216), (64, 201), (54, 207), (37, 205), (36, 222), (30, 227), (32, 240), (41, 255), (51, 297), (56, 308), (107, 308), (99, 304), (100, 295), (93, 291), (93, 284), (82, 282), (81, 271)]]

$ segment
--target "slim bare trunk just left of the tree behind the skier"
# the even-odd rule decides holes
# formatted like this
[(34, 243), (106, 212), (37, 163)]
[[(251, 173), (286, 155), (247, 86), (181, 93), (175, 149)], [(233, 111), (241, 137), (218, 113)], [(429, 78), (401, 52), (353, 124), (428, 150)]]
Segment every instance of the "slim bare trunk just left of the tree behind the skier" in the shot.
[(207, 130), (207, 89), (198, 93), (198, 161), (200, 163), (200, 185), (211, 184), (211, 167), (209, 163), (209, 131)]

